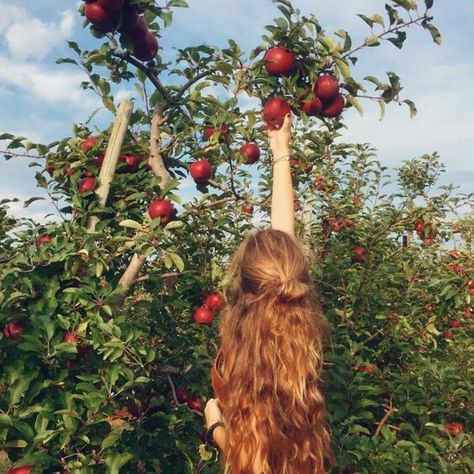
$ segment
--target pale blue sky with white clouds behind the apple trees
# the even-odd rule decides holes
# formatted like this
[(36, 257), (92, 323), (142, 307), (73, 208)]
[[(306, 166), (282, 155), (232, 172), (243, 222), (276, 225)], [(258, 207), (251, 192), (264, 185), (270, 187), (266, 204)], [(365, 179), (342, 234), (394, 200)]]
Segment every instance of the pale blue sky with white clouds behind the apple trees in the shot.
[[(363, 41), (367, 25), (357, 13), (383, 13), (380, 0), (294, 0), (303, 13), (313, 13), (332, 32), (343, 28), (354, 43)], [(419, 0), (419, 3), (422, 3)], [(100, 106), (97, 97), (81, 91), (82, 73), (70, 65), (56, 65), (58, 57), (69, 55), (66, 40), (90, 48), (99, 40), (82, 29), (77, 13), (79, 1), (0, 0), (0, 133), (10, 132), (33, 141), (49, 142), (70, 134), (73, 122), (83, 122)], [(263, 26), (279, 14), (270, 0), (189, 0), (189, 9), (178, 9), (173, 27), (166, 30), (160, 45), (165, 51), (201, 42), (224, 46), (233, 38), (249, 51), (259, 44)], [(404, 96), (413, 99), (418, 115), (409, 120), (406, 107), (388, 107), (379, 121), (376, 104), (365, 103), (360, 117), (354, 109), (345, 114), (344, 139), (372, 143), (379, 159), (389, 167), (403, 160), (438, 151), (447, 173), (444, 183), (461, 191), (474, 190), (474, 49), (472, 24), (474, 2), (435, 0), (434, 23), (443, 35), (438, 47), (426, 31), (410, 28), (404, 48), (390, 44), (362, 52), (355, 75), (383, 77), (396, 71), (405, 87)], [(132, 91), (120, 86), (119, 95)], [(107, 112), (97, 120), (107, 122)], [(0, 146), (1, 149), (1, 146)], [(26, 199), (38, 195), (34, 172), (26, 158), (5, 161), (0, 157), (0, 198)], [(42, 202), (11, 212), (42, 219), (49, 208)]]

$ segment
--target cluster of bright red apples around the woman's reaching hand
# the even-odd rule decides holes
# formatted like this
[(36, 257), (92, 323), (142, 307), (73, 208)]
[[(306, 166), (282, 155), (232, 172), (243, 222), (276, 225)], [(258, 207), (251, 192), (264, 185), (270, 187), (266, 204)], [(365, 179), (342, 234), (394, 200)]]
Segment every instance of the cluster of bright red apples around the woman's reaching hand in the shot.
[[(269, 49), (263, 58), (266, 71), (272, 76), (291, 76), (296, 70), (296, 57), (283, 46)], [(344, 96), (339, 93), (339, 83), (331, 74), (320, 75), (312, 88), (298, 97), (299, 110), (309, 116), (338, 117), (344, 109)], [(273, 128), (280, 128), (290, 106), (281, 97), (265, 103), (264, 121)]]

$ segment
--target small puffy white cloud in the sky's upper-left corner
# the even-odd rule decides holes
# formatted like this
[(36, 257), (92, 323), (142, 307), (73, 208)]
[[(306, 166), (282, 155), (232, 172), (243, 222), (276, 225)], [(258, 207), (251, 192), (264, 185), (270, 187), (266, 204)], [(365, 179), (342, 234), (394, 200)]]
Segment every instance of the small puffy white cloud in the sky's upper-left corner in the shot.
[(45, 23), (38, 18), (18, 19), (5, 32), (10, 54), (16, 59), (41, 61), (74, 30), (75, 15), (62, 12), (59, 23)]

